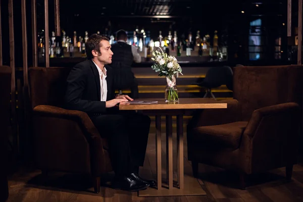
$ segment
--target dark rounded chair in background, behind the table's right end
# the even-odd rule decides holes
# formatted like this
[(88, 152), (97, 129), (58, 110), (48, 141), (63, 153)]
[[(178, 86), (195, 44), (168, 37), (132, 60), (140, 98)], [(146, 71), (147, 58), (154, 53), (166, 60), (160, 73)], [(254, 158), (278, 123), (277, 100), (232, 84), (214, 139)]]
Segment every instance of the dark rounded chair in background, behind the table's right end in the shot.
[(214, 99), (216, 99), (215, 95), (212, 93), (212, 88), (226, 85), (228, 89), (232, 90), (232, 75), (232, 69), (228, 66), (212, 67), (207, 71), (203, 82), (192, 84), (206, 87), (207, 89), (204, 97), (212, 96)]

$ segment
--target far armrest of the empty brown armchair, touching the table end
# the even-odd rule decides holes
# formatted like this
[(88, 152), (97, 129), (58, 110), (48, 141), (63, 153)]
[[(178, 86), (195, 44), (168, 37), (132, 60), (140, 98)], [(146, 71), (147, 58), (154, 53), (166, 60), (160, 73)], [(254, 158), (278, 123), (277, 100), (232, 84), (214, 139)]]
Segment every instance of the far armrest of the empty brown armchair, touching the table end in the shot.
[(218, 103), (227, 103), (227, 109), (203, 109), (197, 110), (187, 128), (195, 128), (200, 126), (212, 126), (227, 124), (238, 121), (239, 106), (236, 99), (224, 99), (217, 101)]

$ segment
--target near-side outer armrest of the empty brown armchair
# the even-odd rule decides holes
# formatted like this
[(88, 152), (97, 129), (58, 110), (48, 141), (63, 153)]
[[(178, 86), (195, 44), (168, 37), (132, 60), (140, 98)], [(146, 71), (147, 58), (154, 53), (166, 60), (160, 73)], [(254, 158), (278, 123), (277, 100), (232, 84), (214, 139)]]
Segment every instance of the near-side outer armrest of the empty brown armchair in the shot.
[(300, 112), (298, 104), (284, 103), (252, 113), (240, 142), (240, 164), (246, 173), (296, 163)]

